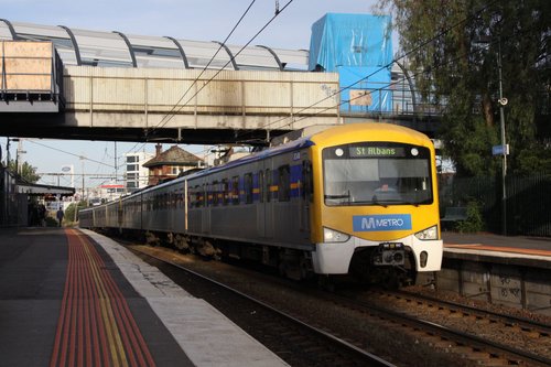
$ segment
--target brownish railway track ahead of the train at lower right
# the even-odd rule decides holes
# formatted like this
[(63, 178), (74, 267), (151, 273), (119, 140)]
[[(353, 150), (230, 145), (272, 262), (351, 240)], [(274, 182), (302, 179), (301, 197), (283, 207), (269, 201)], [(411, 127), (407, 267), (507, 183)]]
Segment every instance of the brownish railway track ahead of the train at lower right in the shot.
[[(358, 310), (365, 309), (364, 312), (379, 314), (381, 317), (390, 315), (390, 319), (395, 319), (396, 321), (401, 320), (404, 327), (409, 327), (414, 334), (420, 334), (421, 337), (432, 341), (435, 346), (450, 348), (464, 358), (482, 365), (551, 365), (551, 358), (548, 356), (549, 349), (545, 347), (545, 345), (551, 345), (551, 327), (549, 325), (409, 292), (379, 291), (377, 293), (382, 295), (382, 298), (391, 300), (388, 303), (393, 304), (400, 311), (392, 311), (388, 307), (375, 305), (372, 302), (353, 300), (347, 296), (343, 296), (342, 302), (343, 304), (352, 302), (352, 307), (357, 307)], [(443, 317), (455, 319), (455, 324), (462, 322), (471, 324), (480, 322), (482, 325), (494, 324), (494, 328), (501, 330), (501, 333), (514, 332), (525, 334), (527, 337), (532, 338), (534, 344), (543, 345), (542, 350), (545, 349), (547, 355), (510, 346), (487, 335), (478, 336), (472, 332), (465, 332), (421, 319), (422, 316), (414, 312), (412, 307), (400, 307), (400, 304), (403, 304), (403, 302), (413, 303), (415, 307), (424, 309), (422, 315), (439, 312), (443, 314)], [(511, 339), (510, 336), (509, 339)]]

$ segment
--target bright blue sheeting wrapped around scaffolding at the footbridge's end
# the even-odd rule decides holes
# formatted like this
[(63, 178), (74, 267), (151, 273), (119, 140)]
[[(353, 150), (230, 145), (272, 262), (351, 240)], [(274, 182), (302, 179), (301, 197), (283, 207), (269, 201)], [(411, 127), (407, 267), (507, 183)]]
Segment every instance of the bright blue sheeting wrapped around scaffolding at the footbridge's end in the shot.
[[(339, 73), (343, 111), (391, 111), (389, 15), (327, 13), (312, 25), (309, 69)], [(349, 88), (348, 88), (349, 87)]]

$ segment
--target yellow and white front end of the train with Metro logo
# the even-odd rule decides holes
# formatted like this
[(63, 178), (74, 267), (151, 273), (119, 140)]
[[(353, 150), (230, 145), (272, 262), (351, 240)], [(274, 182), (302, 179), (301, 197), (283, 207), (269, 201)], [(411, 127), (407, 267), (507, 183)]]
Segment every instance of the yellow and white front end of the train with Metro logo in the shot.
[(314, 272), (408, 283), (440, 270), (432, 141), (387, 123), (347, 125), (311, 140)]

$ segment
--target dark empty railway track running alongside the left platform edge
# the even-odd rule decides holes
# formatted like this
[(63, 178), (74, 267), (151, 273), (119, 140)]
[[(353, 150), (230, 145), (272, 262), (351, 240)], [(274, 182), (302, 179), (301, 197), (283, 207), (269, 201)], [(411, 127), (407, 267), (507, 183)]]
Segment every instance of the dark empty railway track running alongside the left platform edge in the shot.
[[(236, 323), (291, 366), (395, 366), (368, 350), (277, 310), (227, 284), (165, 258), (136, 248), (132, 250), (149, 263), (159, 267), (191, 294), (205, 299), (229, 319), (233, 319), (235, 310), (253, 319), (255, 323), (251, 327), (239, 322)], [(185, 272), (185, 276), (182, 272)]]

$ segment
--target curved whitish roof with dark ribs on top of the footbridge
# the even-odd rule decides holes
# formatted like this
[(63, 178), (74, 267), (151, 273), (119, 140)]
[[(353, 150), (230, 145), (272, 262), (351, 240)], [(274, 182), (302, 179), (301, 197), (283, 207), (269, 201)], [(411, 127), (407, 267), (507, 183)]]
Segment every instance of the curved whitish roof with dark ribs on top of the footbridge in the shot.
[[(66, 30), (56, 25), (42, 25), (12, 22), (14, 32), (21, 39), (52, 41), (65, 65), (76, 65), (76, 55), (71, 36)], [(80, 29), (71, 29), (80, 52), (83, 65), (132, 66), (132, 56), (127, 43), (120, 34)], [(136, 57), (138, 67), (183, 68), (184, 60), (177, 45), (169, 37), (126, 35)], [(0, 22), (0, 39), (11, 40), (8, 24)], [(206, 41), (177, 40), (182, 46), (188, 67), (204, 68), (210, 58), (208, 68), (234, 69), (231, 53), (239, 69), (279, 69), (278, 58), (285, 71), (307, 71), (309, 52), (283, 48), (267, 50), (263, 46), (248, 46), (241, 53), (241, 46), (227, 45)], [(274, 57), (272, 52), (278, 56)], [(238, 54), (239, 53), (239, 54)]]

